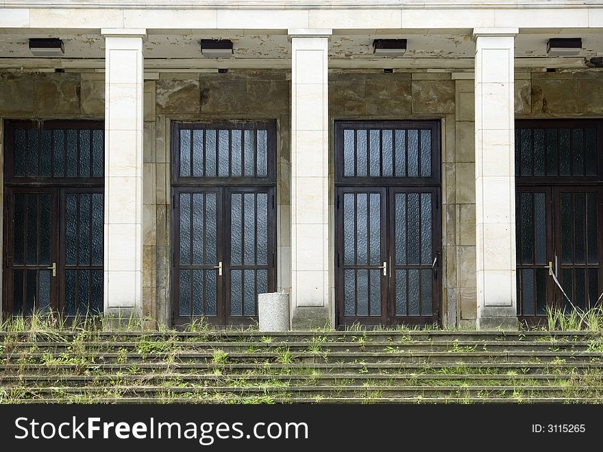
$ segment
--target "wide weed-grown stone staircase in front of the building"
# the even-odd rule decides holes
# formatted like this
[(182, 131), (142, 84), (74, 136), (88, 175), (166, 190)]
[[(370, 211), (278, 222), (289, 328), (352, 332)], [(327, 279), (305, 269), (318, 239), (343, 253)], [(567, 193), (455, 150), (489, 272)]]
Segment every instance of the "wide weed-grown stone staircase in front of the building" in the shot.
[(582, 331), (0, 333), (0, 403), (603, 403)]

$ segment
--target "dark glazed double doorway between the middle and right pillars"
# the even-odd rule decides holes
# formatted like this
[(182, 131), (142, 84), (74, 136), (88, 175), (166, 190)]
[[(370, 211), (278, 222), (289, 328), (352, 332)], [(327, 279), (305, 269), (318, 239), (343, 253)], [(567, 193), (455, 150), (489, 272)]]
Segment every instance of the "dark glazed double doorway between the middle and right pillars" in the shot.
[(335, 136), (338, 324), (439, 323), (439, 123), (342, 121)]

